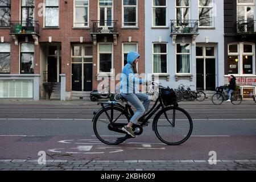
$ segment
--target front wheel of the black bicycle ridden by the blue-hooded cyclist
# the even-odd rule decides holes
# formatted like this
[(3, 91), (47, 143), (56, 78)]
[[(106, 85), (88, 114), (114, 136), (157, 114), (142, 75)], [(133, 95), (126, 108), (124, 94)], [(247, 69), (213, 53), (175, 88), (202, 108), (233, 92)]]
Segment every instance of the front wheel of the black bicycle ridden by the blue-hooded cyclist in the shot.
[(168, 145), (184, 143), (191, 135), (193, 123), (190, 115), (180, 107), (166, 107), (154, 118), (156, 137)]

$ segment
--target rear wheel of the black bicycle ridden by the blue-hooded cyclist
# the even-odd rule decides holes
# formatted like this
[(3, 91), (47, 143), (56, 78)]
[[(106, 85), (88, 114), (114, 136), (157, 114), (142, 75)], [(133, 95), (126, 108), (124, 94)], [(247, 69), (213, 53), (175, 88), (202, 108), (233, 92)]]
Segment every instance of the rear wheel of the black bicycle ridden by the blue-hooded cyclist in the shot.
[[(129, 115), (123, 111), (121, 107), (113, 106), (112, 114), (112, 106), (107, 106), (96, 114), (93, 121), (93, 131), (101, 142), (113, 145), (125, 141), (126, 133), (121, 129), (127, 125)], [(113, 128), (119, 132), (110, 130)]]

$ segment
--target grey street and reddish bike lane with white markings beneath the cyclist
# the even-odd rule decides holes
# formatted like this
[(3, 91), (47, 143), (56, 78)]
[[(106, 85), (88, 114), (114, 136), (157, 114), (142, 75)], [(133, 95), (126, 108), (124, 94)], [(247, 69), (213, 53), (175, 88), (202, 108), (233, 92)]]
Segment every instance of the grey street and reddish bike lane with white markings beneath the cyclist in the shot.
[(193, 133), (180, 146), (167, 146), (152, 127), (118, 146), (102, 144), (93, 133), (92, 116), (100, 106), (92, 102), (72, 104), (0, 105), (0, 159), (70, 160), (218, 160), (256, 159), (256, 104), (184, 102), (180, 107), (193, 119)]

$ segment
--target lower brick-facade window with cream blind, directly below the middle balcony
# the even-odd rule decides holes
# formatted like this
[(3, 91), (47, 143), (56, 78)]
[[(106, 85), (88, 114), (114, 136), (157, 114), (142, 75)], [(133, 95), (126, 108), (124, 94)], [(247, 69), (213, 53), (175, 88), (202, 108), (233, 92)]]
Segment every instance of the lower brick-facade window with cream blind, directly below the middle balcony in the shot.
[(98, 73), (112, 73), (113, 44), (98, 44)]

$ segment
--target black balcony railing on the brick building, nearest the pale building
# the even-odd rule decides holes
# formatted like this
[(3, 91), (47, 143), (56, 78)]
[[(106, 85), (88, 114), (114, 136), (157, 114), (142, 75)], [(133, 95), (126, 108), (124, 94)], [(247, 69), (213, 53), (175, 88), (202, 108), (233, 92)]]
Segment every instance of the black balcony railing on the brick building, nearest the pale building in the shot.
[(113, 34), (117, 33), (117, 20), (92, 20), (93, 33)]

